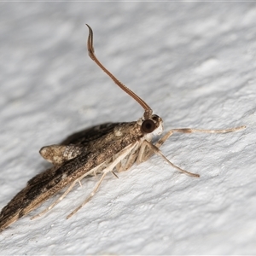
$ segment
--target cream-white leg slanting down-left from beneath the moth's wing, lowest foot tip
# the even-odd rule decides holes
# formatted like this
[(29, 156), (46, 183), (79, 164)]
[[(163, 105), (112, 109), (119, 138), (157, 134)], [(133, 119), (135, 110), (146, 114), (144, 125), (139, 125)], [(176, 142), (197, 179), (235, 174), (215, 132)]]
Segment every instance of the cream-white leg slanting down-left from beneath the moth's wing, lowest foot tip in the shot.
[(129, 145), (128, 147), (126, 147), (125, 149), (123, 149), (123, 150), (121, 151), (121, 154), (119, 154), (119, 156), (118, 156), (115, 160), (113, 160), (113, 162), (112, 162), (108, 167), (106, 167), (105, 170), (103, 170), (103, 175), (102, 175), (101, 179), (96, 183), (96, 186), (95, 186), (95, 188), (93, 189), (93, 191), (90, 193), (90, 195), (82, 202), (82, 204), (81, 204), (79, 207), (77, 207), (73, 212), (71, 212), (69, 215), (67, 215), (67, 218), (72, 217), (73, 214), (75, 214), (76, 212), (78, 212), (79, 209), (81, 209), (82, 207), (84, 207), (84, 205), (85, 205), (88, 201), (90, 201), (90, 199), (93, 197), (93, 195), (96, 194), (97, 189), (99, 189), (99, 187), (100, 187), (100, 185), (101, 185), (101, 183), (102, 183), (102, 181), (103, 181), (103, 178), (107, 175), (107, 173), (108, 173), (108, 172), (112, 172), (114, 166), (116, 166), (116, 165), (119, 163), (120, 160), (123, 160), (123, 159), (126, 157), (126, 155), (130, 154), (131, 151), (132, 151), (132, 149), (133, 149), (134, 147), (136, 147), (136, 146), (137, 146), (137, 143), (133, 143), (133, 144)]

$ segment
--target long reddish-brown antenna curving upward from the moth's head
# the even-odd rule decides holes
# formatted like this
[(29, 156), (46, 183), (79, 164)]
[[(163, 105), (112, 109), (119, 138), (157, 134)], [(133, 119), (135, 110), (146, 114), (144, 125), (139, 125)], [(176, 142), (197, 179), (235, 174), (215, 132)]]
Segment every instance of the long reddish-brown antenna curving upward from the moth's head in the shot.
[(132, 90), (130, 90), (128, 87), (125, 86), (125, 84), (122, 84), (118, 79), (116, 79), (112, 73), (110, 73), (108, 71), (108, 69), (106, 67), (104, 67), (102, 65), (102, 63), (100, 61), (98, 61), (98, 59), (96, 58), (96, 55), (94, 54), (94, 49), (93, 49), (93, 32), (92, 29), (90, 28), (90, 26), (88, 24), (86, 24), (86, 26), (88, 26), (89, 28), (89, 36), (88, 36), (88, 41), (87, 41), (87, 49), (88, 49), (88, 54), (90, 56), (90, 58), (92, 59), (92, 61), (95, 61), (96, 64), (102, 68), (102, 70), (108, 74), (108, 76), (113, 79), (113, 82), (117, 85), (119, 85), (119, 87), (122, 90), (125, 90), (125, 92), (132, 96), (145, 110), (144, 112), (144, 118), (145, 119), (149, 119), (153, 113), (152, 109), (149, 108), (148, 104), (146, 102), (143, 101), (143, 99), (141, 99), (139, 96), (137, 96)]

